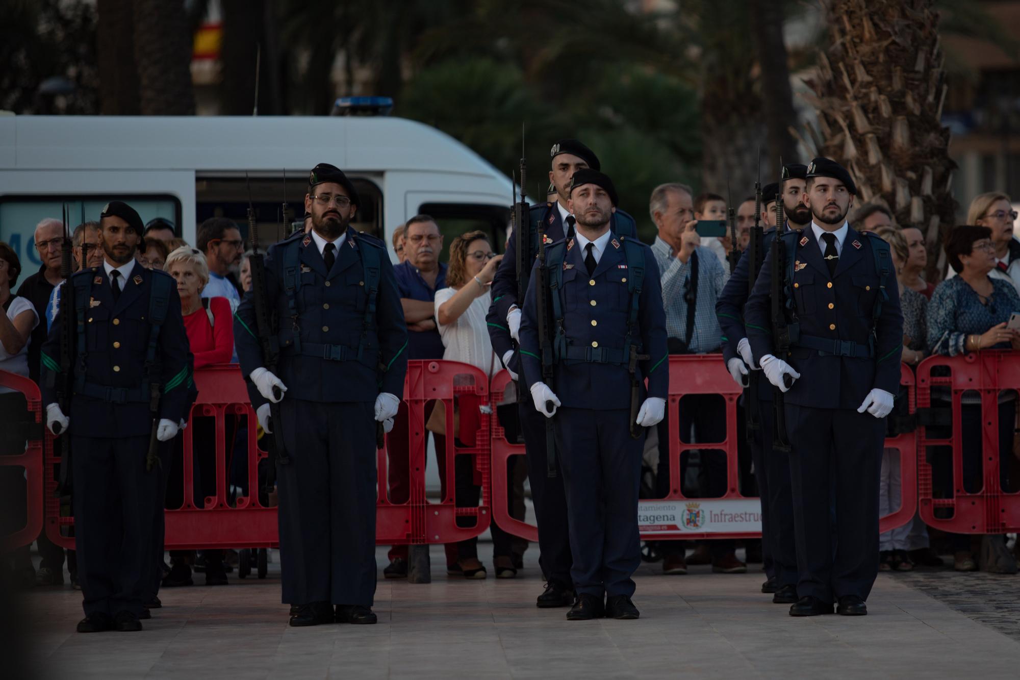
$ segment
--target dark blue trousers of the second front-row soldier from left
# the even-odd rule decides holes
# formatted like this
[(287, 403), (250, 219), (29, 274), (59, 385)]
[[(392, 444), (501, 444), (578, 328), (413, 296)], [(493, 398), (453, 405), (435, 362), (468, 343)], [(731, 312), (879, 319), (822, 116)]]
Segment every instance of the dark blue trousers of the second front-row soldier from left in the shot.
[(286, 398), (276, 466), (283, 601), (371, 606), (375, 595), (372, 402)]

